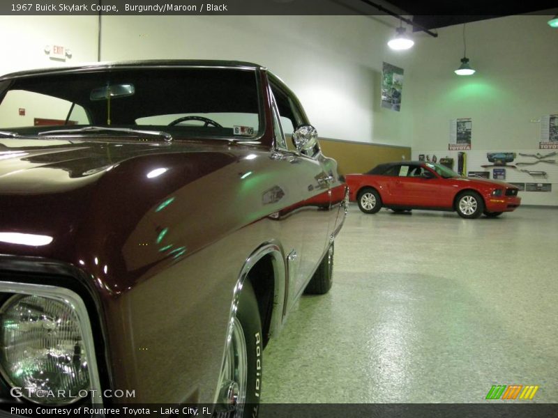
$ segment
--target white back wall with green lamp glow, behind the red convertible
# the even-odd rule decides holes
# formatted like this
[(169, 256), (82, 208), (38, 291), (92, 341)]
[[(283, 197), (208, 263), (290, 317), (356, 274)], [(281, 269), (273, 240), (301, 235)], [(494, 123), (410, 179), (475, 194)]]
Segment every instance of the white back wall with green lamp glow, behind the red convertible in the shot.
[[(439, 29), (438, 38), (417, 39), (405, 86), (412, 107), (406, 122), (411, 123), (414, 158), (456, 154), (448, 151), (449, 121), (455, 118), (472, 118), (469, 171), (484, 171), (480, 166), (490, 164), (485, 159), (489, 151), (550, 152), (537, 150), (541, 125), (536, 122), (544, 114), (558, 113), (558, 30), (546, 24), (550, 17), (511, 16), (467, 24), (467, 57), (477, 70), (470, 77), (453, 73), (463, 56), (462, 25)], [(558, 205), (555, 169), (547, 164), (521, 168), (548, 171), (548, 178), (537, 180), (508, 169), (510, 181), (553, 183), (552, 193), (520, 193), (523, 202)]]

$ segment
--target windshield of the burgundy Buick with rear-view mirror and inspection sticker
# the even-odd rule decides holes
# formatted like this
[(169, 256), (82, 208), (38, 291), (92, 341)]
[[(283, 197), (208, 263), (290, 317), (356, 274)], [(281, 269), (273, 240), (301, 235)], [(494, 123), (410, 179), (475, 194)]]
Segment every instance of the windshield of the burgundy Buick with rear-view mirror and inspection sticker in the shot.
[(153, 130), (250, 140), (262, 130), (254, 69), (110, 68), (24, 76), (0, 82), (0, 100), (4, 137), (81, 129), (79, 134)]

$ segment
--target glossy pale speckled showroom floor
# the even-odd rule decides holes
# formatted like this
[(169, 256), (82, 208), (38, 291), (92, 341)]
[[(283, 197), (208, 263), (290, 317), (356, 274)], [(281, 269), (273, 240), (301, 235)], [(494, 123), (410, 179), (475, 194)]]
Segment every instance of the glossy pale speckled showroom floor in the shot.
[(558, 210), (497, 219), (352, 204), (334, 284), (264, 352), (264, 403), (558, 402)]

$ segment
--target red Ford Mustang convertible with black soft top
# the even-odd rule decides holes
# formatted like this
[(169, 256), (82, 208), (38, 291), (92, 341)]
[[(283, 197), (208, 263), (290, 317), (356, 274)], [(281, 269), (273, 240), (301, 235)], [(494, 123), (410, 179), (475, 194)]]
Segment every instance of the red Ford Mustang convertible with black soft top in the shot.
[(365, 213), (382, 208), (457, 211), (460, 217), (502, 215), (518, 208), (518, 188), (509, 183), (462, 177), (431, 162), (379, 164), (364, 174), (346, 176), (349, 199)]

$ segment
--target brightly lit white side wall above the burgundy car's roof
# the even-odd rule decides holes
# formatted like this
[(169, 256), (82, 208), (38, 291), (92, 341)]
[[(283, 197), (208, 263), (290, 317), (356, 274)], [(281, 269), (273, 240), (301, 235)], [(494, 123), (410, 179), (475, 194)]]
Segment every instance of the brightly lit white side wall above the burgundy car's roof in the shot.
[[(362, 16), (103, 17), (103, 61), (229, 59), (265, 65), (299, 96), (322, 137), (410, 145), (410, 109), (379, 107), (393, 28)], [(408, 126), (408, 125), (407, 125)]]

